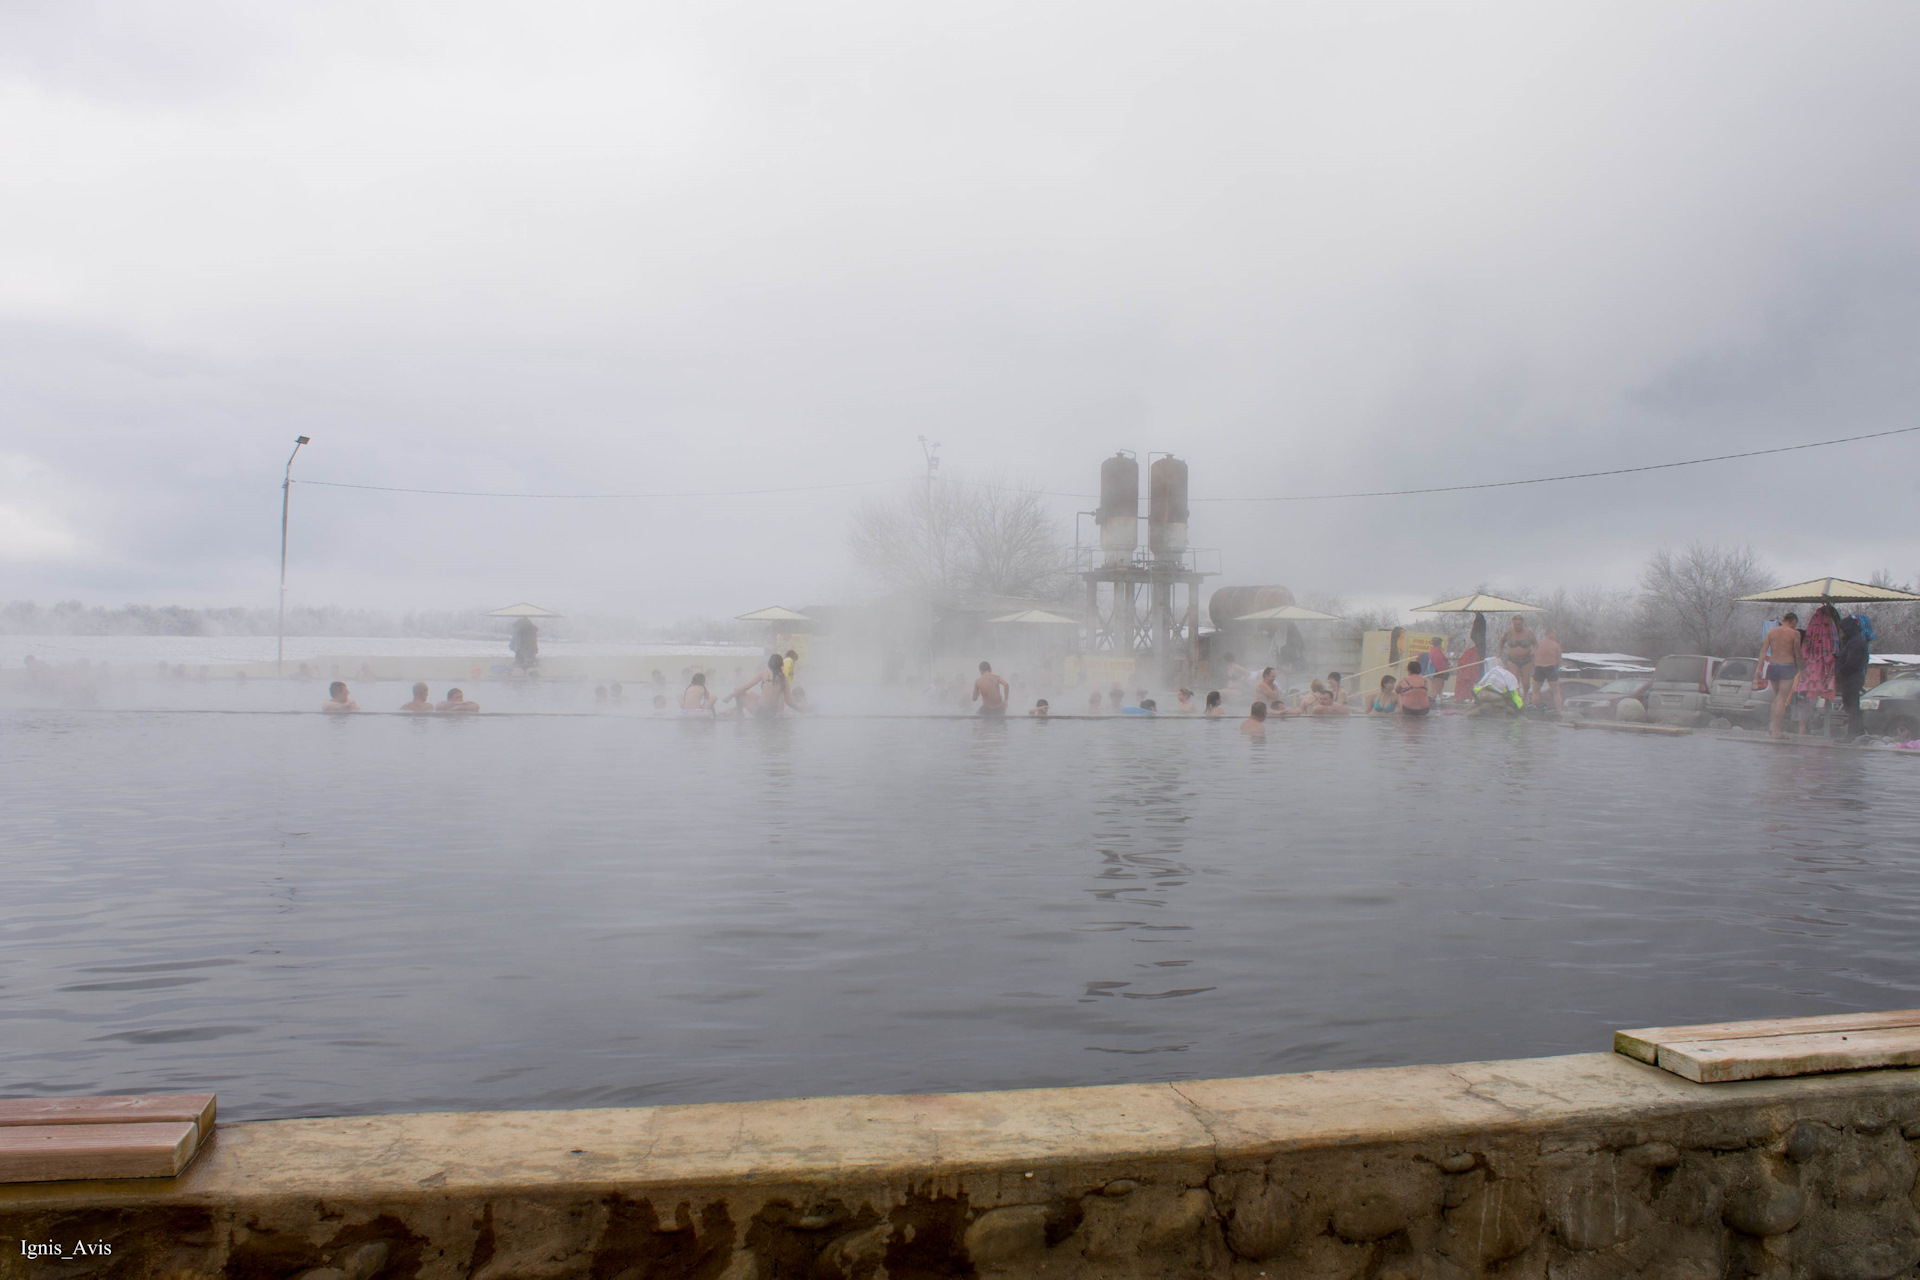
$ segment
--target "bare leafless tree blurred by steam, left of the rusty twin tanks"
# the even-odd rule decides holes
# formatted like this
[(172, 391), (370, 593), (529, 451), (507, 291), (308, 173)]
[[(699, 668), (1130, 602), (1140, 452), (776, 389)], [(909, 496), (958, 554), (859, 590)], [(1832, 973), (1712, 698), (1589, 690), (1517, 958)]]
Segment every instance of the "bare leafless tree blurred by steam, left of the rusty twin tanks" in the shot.
[(864, 505), (847, 541), (860, 568), (895, 591), (1056, 599), (1068, 585), (1060, 524), (1033, 486), (952, 474), (908, 486)]

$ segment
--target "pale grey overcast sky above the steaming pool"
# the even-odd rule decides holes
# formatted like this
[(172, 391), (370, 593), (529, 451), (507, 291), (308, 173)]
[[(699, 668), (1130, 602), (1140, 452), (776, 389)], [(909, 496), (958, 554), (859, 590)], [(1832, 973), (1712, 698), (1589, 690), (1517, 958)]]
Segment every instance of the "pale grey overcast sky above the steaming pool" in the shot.
[[(1221, 581), (1920, 574), (1920, 6), (0, 4), (0, 599), (860, 591), (947, 464)], [(1087, 507), (1054, 499), (1064, 528)]]

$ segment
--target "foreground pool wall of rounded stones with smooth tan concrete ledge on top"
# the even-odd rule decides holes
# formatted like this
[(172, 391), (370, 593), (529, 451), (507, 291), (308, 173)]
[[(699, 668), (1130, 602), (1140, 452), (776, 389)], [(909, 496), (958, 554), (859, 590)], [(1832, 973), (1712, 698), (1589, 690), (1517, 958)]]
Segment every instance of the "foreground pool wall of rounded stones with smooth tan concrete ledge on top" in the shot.
[(0, 1188), (61, 1274), (1832, 1276), (1920, 1263), (1920, 1069), (1615, 1054), (996, 1094), (221, 1125), (180, 1176)]

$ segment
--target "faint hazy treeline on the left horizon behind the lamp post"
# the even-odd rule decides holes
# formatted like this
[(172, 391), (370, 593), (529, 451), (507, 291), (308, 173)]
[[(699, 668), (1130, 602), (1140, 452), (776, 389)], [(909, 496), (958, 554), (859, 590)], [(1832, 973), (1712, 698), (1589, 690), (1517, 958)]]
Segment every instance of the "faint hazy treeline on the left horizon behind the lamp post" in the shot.
[[(61, 601), (0, 604), (0, 635), (273, 635), (278, 614), (273, 608), (188, 608), (184, 604), (121, 604), (106, 608)], [(286, 610), (288, 635), (382, 635), (382, 637), (493, 637), (513, 626), (507, 618), (486, 618), (482, 610), (342, 608), (338, 604), (292, 606)], [(722, 618), (682, 618), (670, 626), (647, 626), (636, 618), (551, 618), (540, 622), (551, 639), (595, 643), (689, 643), (724, 645), (755, 639), (758, 629)]]

